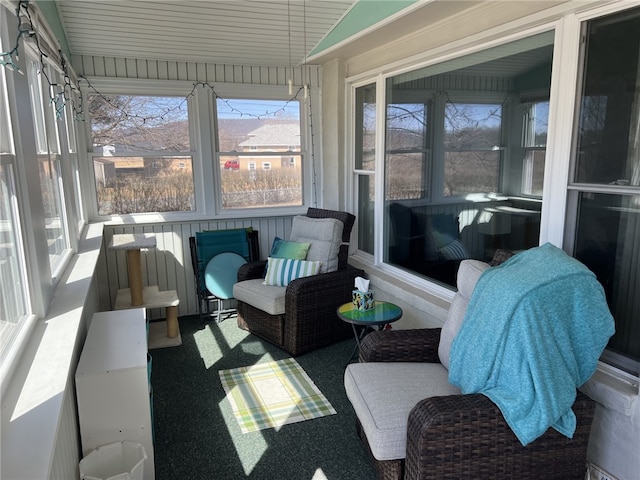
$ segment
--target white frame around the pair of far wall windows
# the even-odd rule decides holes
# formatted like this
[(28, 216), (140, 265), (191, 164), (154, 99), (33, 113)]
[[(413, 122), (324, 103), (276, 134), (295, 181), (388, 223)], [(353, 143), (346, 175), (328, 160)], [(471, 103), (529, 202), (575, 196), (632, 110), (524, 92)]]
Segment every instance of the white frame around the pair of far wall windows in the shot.
[[(88, 82), (88, 83), (87, 83)], [(87, 125), (86, 157), (90, 160), (90, 167), (83, 185), (89, 186), (91, 198), (86, 202), (87, 217), (100, 221), (131, 222), (155, 222), (155, 221), (182, 221), (201, 218), (239, 218), (247, 216), (276, 216), (295, 215), (304, 213), (314, 201), (311, 186), (313, 185), (313, 155), (307, 146), (311, 138), (309, 108), (313, 103), (314, 108), (319, 102), (319, 92), (316, 89), (309, 91), (308, 98), (300, 101), (300, 143), (301, 151), (296, 152), (302, 161), (302, 205), (286, 207), (263, 208), (237, 208), (223, 209), (221, 203), (221, 175), (217, 165), (217, 113), (216, 95), (225, 99), (255, 99), (255, 100), (291, 100), (286, 89), (273, 85), (229, 84), (216, 83), (210, 85), (202, 82), (188, 82), (179, 80), (143, 80), (87, 77), (87, 82), (81, 82), (80, 88), (83, 95), (91, 95), (99, 92), (104, 95), (157, 95), (157, 96), (184, 96), (190, 102), (189, 130), (192, 139), (191, 155), (194, 177), (195, 210), (189, 212), (149, 212), (132, 213), (126, 215), (98, 215), (96, 197), (96, 184), (91, 152), (91, 131)], [(90, 86), (89, 86), (90, 85)], [(214, 91), (215, 89), (215, 91)], [(89, 124), (89, 122), (87, 122)], [(257, 167), (257, 165), (256, 165)], [(211, 188), (211, 185), (217, 185)]]

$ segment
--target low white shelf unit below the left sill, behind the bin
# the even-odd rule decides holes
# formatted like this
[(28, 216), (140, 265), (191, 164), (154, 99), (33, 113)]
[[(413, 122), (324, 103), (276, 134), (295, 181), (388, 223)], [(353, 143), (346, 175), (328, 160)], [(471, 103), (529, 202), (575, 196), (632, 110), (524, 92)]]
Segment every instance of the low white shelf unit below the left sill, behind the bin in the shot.
[(144, 480), (155, 478), (151, 385), (144, 308), (93, 315), (76, 370), (82, 455), (122, 440), (147, 453)]

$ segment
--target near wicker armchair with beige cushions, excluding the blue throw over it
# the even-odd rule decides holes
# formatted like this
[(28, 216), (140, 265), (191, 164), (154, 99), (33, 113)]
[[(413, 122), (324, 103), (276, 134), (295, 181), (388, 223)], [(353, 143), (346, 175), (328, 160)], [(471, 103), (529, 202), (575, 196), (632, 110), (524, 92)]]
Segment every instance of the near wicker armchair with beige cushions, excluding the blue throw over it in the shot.
[(548, 428), (522, 446), (488, 397), (463, 395), (448, 383), (450, 341), (486, 268), (462, 263), (443, 328), (372, 332), (361, 343), (360, 363), (347, 367), (347, 396), (379, 479), (584, 478), (595, 408), (589, 397), (577, 393), (573, 438)]

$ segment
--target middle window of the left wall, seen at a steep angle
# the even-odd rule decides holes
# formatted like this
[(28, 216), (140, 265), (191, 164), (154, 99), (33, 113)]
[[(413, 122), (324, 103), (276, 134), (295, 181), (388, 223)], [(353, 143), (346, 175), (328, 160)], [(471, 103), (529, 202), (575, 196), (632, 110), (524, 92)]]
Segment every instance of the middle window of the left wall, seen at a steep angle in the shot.
[(29, 58), (27, 64), (49, 263), (52, 276), (55, 278), (63, 267), (65, 253), (70, 251), (56, 103), (49, 97), (47, 81), (48, 78), (55, 82), (57, 74), (50, 66), (43, 66), (33, 58)]

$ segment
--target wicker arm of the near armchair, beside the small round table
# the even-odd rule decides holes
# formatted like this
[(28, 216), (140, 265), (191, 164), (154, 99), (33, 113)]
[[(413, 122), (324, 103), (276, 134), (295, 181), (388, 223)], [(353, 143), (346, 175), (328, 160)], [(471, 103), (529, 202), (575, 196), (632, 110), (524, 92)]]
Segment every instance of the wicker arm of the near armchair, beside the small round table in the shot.
[(360, 345), (361, 362), (437, 363), (440, 328), (372, 332)]

